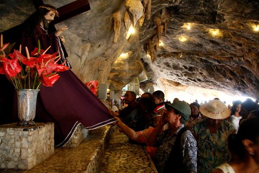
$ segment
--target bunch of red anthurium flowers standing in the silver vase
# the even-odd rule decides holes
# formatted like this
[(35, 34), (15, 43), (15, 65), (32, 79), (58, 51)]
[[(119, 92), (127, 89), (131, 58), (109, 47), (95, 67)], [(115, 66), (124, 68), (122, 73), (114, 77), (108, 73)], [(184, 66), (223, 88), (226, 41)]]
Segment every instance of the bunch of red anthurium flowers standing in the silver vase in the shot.
[(41, 85), (52, 87), (60, 78), (57, 72), (69, 70), (69, 67), (63, 64), (57, 64), (60, 56), (57, 52), (47, 54), (47, 50), (38, 47), (31, 54), (26, 49), (27, 57), (21, 54), (21, 45), (18, 50), (14, 50), (8, 56), (4, 53), (4, 49), (9, 43), (3, 44), (2, 35), (0, 38), (0, 74), (13, 84), (16, 89), (39, 89)]

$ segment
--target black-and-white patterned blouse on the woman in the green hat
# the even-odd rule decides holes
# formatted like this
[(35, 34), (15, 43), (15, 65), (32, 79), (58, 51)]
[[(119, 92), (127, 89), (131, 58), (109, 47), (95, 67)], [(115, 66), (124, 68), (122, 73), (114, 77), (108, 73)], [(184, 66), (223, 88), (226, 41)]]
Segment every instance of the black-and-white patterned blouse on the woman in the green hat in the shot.
[[(158, 146), (156, 152), (156, 169), (158, 173), (163, 173), (164, 166), (174, 146), (177, 134), (185, 125), (179, 127), (173, 135), (170, 135), (171, 128), (163, 131), (156, 137), (155, 146)], [(187, 170), (197, 173), (197, 143), (192, 133), (186, 130), (181, 137), (181, 148), (183, 154), (184, 166)], [(173, 171), (174, 168), (172, 168)]]

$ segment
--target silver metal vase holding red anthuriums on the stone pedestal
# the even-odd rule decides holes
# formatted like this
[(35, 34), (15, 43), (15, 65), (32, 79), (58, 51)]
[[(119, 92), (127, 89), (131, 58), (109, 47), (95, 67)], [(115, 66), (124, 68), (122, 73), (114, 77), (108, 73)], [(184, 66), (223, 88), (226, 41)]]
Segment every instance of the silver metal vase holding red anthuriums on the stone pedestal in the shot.
[(34, 126), (37, 94), (39, 89), (16, 89), (18, 100), (18, 126)]

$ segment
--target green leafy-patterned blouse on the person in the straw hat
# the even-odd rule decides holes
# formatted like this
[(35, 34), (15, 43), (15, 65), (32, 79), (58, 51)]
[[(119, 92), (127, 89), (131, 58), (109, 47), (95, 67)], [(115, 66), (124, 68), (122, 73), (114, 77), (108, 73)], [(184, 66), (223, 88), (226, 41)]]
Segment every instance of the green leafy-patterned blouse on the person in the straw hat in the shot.
[(235, 128), (231, 123), (222, 120), (219, 130), (216, 133), (210, 133), (206, 127), (207, 119), (198, 122), (193, 129), (198, 146), (198, 173), (211, 173), (214, 168), (222, 163), (228, 163), (231, 159), (227, 139)]

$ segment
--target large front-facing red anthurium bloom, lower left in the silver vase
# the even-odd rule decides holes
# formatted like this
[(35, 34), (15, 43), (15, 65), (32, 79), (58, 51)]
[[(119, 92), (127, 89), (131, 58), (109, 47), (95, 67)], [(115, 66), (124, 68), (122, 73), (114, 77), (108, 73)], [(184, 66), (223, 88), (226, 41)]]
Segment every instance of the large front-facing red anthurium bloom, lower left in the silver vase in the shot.
[(2, 64), (5, 74), (9, 77), (15, 77), (17, 73), (20, 73), (22, 71), (22, 67), (15, 59), (2, 58)]

